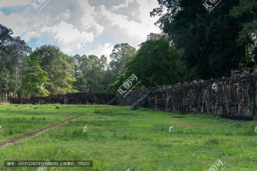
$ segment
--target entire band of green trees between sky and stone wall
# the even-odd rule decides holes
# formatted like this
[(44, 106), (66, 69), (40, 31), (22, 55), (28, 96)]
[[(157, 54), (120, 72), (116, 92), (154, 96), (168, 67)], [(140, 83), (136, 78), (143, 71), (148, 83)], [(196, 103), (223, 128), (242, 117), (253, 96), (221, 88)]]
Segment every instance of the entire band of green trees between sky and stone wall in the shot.
[[(214, 1), (213, 1), (214, 2)], [(0, 25), (0, 93), (10, 97), (67, 92), (117, 92), (134, 74), (135, 89), (196, 79), (229, 77), (257, 63), (257, 3), (223, 0), (206, 10), (204, 0), (158, 0), (151, 17), (160, 34), (150, 33), (139, 49), (116, 44), (107, 57), (68, 56), (54, 45), (34, 51), (12, 30)], [(42, 84), (45, 87), (42, 89)], [(123, 86), (123, 87), (122, 87)], [(122, 87), (122, 88), (121, 88)]]

